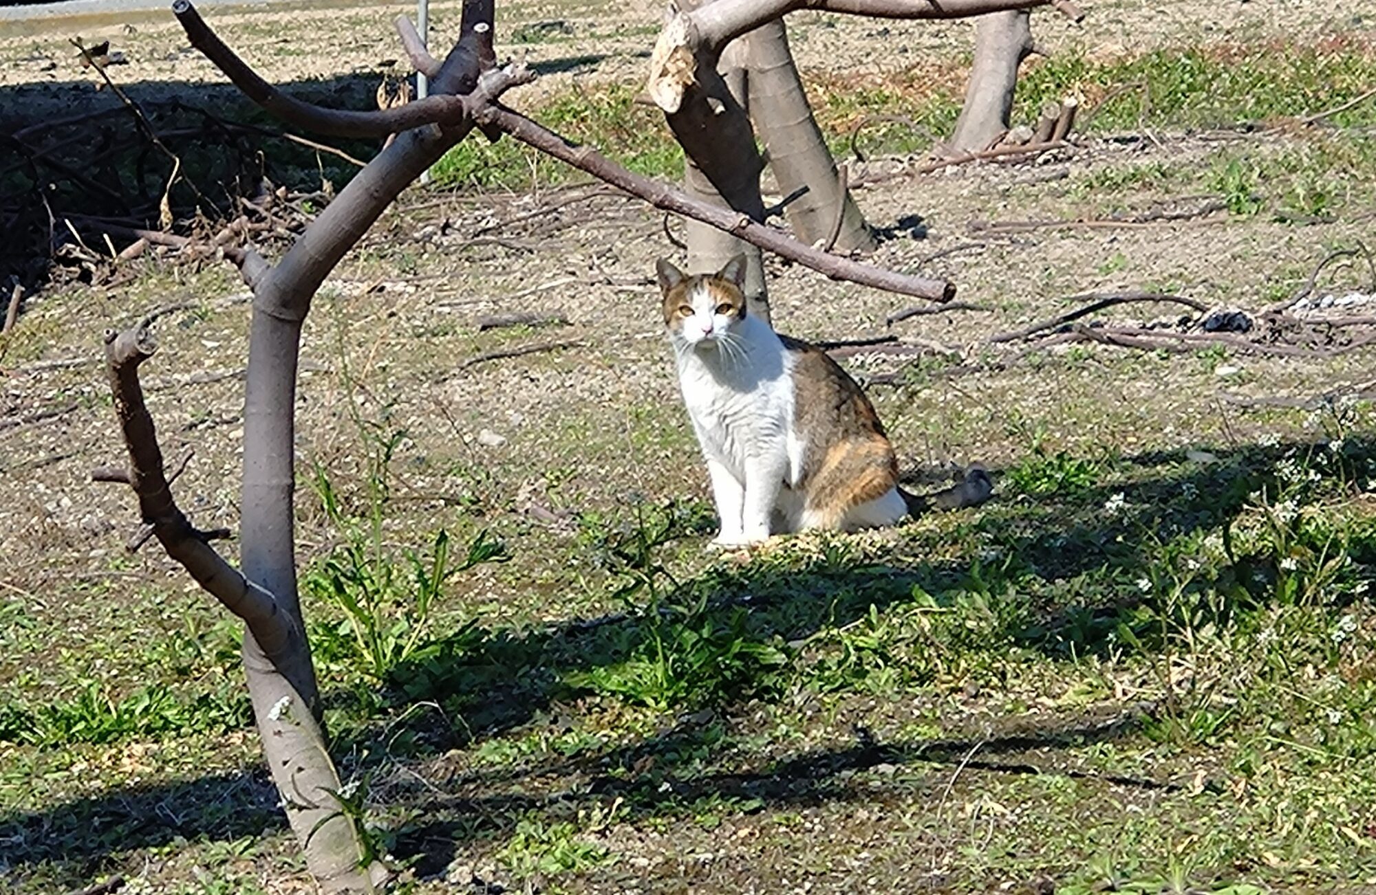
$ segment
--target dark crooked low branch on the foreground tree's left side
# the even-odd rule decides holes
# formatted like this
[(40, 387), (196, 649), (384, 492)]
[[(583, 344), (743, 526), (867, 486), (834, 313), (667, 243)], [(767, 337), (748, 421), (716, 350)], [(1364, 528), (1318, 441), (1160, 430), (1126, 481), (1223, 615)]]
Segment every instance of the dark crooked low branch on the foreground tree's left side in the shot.
[(106, 333), (110, 390), (129, 451), (129, 470), (121, 474), (122, 470), (98, 469), (92, 478), (127, 481), (139, 498), (139, 514), (153, 527), (153, 533), (168, 555), (180, 562), (226, 609), (244, 619), (263, 649), (272, 654), (300, 637), (300, 631), (281, 612), (272, 594), (245, 579), (206, 543), (217, 532), (202, 532), (193, 527), (172, 498), (153, 415), (143, 403), (143, 388), (139, 384), (139, 364), (151, 357), (155, 348), (151, 333), (142, 326), (124, 333)]

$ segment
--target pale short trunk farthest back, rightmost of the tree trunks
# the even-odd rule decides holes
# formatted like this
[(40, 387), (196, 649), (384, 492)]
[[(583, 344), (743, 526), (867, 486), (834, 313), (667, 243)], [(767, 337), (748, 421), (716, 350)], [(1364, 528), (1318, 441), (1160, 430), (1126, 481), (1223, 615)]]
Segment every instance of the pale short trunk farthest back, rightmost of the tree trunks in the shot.
[(1032, 52), (1029, 19), (1026, 10), (1010, 10), (976, 21), (974, 65), (948, 153), (980, 153), (1007, 133), (1018, 66)]

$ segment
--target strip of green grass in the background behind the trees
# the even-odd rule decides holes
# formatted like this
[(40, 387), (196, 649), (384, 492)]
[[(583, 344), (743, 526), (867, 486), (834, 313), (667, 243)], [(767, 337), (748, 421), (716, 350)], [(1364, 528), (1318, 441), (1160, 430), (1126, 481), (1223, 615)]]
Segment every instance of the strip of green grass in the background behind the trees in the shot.
[[(850, 151), (850, 131), (870, 115), (900, 115), (866, 128), (866, 154), (923, 151), (948, 133), (960, 111), (963, 84), (951, 67), (934, 77), (930, 66), (886, 76), (856, 78), (808, 73), (809, 98), (817, 121), (838, 157)], [(1097, 58), (1083, 51), (1058, 52), (1029, 62), (1018, 82), (1015, 121), (1032, 121), (1038, 109), (1066, 95), (1079, 95), (1091, 118), (1090, 133), (1112, 131), (1233, 128), (1269, 124), (1331, 109), (1357, 98), (1376, 78), (1376, 54), (1348, 43), (1307, 47), (1210, 45), (1156, 49), (1145, 55)], [(662, 115), (634, 103), (636, 89), (625, 85), (578, 87), (549, 99), (534, 114), (546, 126), (575, 142), (594, 146), (638, 173), (677, 179), (682, 155)], [(1358, 104), (1331, 118), (1337, 126), (1376, 122), (1370, 106)], [(1355, 151), (1370, 164), (1369, 140)], [(1335, 140), (1337, 146), (1346, 146)], [(1322, 154), (1322, 153), (1321, 153)], [(1322, 165), (1315, 159), (1315, 168)], [(464, 187), (526, 190), (533, 184), (564, 183), (578, 175), (512, 140), (487, 144), (465, 140), (432, 172), (440, 183)], [(1165, 179), (1161, 162), (1120, 177), (1119, 187), (1139, 179)], [(1249, 172), (1237, 172), (1234, 188)], [(1115, 184), (1105, 184), (1113, 188)], [(1248, 210), (1247, 197), (1229, 208)], [(1313, 201), (1310, 202), (1313, 203)], [(1251, 209), (1255, 210), (1255, 209)]]

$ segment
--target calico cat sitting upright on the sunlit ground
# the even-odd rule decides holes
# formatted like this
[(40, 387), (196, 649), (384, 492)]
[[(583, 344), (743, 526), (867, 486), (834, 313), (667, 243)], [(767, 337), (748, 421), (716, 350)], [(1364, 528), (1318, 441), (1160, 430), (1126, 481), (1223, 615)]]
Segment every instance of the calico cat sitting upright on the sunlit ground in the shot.
[(714, 544), (771, 535), (894, 525), (932, 506), (980, 503), (980, 466), (919, 498), (899, 487), (899, 461), (874, 406), (821, 349), (746, 312), (746, 258), (716, 274), (655, 264), (678, 385), (707, 461), (721, 517)]

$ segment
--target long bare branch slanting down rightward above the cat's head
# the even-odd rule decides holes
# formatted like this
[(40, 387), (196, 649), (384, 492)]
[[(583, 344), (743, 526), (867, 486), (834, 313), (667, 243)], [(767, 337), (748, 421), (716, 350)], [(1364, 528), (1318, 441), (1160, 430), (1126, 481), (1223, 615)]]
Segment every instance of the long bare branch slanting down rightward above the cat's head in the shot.
[(592, 147), (574, 146), (553, 131), (504, 106), (494, 103), (482, 109), (476, 111), (476, 120), (493, 124), (522, 143), (534, 146), (539, 151), (553, 155), (579, 170), (586, 170), (614, 187), (640, 197), (658, 209), (700, 220), (705, 224), (733, 234), (751, 245), (826, 274), (831, 279), (849, 280), (932, 301), (951, 301), (955, 298), (955, 283), (944, 279), (886, 271), (804, 245), (773, 227), (753, 221), (746, 214), (732, 212), (728, 208), (698, 202), (667, 184), (626, 170)]

